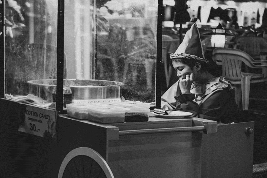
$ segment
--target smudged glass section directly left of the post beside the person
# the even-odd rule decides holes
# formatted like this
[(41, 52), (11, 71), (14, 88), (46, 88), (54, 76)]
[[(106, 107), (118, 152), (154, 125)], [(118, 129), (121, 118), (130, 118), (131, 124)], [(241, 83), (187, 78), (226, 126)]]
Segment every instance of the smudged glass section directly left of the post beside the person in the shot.
[(126, 100), (155, 101), (155, 0), (96, 2), (95, 79), (123, 82)]

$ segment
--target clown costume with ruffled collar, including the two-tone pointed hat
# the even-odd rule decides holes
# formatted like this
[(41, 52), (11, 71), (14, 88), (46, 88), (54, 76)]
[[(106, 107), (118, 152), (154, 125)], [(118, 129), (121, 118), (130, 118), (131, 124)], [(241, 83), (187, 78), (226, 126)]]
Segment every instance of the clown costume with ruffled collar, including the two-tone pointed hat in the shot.
[[(197, 18), (193, 18), (191, 21), (196, 20)], [(209, 63), (204, 57), (196, 23), (186, 32), (183, 42), (170, 58)], [(236, 117), (237, 108), (233, 88), (223, 77), (214, 77), (203, 84), (193, 82), (190, 94), (182, 94), (178, 80), (161, 96), (161, 108), (182, 108), (184, 111), (192, 112), (194, 117), (215, 120), (218, 123), (232, 122)]]

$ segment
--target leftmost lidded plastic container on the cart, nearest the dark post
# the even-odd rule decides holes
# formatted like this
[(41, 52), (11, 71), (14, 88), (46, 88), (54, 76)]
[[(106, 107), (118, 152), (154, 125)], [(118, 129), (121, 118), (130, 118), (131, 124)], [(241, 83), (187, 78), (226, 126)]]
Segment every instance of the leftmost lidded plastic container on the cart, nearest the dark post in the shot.
[(91, 104), (66, 104), (67, 115), (76, 119), (88, 119), (88, 108), (93, 107)]

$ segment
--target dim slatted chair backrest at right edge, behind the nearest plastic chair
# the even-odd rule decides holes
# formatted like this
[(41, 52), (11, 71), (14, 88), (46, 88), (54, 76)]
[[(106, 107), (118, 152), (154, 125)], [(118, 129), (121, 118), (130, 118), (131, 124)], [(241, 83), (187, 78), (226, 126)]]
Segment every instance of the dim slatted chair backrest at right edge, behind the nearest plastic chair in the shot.
[(267, 39), (259, 36), (241, 36), (235, 39), (236, 48), (248, 53), (251, 57), (260, 56), (266, 51)]

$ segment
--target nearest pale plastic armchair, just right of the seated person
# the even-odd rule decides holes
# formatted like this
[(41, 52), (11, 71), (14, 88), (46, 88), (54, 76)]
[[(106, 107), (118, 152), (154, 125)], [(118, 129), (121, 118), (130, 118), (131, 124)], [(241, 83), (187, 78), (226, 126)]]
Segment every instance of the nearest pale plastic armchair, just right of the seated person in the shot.
[(222, 76), (235, 85), (235, 99), (238, 107), (242, 96), (242, 109), (248, 110), (250, 83), (266, 82), (266, 73), (253, 74), (241, 71), (241, 63), (251, 68), (265, 68), (267, 61), (257, 61), (241, 50), (230, 48), (215, 48), (213, 61), (222, 65)]

